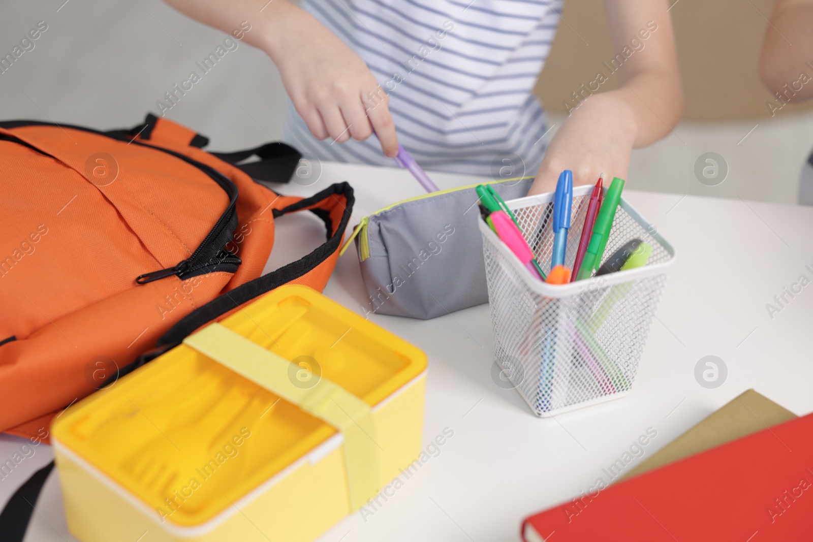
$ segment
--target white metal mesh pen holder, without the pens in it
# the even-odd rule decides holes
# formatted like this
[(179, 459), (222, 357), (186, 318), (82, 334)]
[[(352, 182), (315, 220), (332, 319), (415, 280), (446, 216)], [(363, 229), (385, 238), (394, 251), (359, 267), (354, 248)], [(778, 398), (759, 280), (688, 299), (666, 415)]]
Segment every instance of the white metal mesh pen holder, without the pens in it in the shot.
[[(573, 189), (565, 265), (573, 267), (592, 186)], [(550, 269), (554, 194), (507, 202), (542, 269)], [(633, 385), (672, 245), (622, 198), (602, 261), (628, 241), (652, 245), (646, 266), (570, 284), (535, 278), (480, 220), (494, 358), (533, 412), (550, 416), (624, 397)]]

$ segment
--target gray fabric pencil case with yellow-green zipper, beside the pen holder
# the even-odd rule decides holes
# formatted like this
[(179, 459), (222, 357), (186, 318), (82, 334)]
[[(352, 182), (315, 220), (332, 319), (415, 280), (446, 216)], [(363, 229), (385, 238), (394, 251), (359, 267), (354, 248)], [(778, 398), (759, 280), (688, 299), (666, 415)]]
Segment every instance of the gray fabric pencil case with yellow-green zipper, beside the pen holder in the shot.
[[(533, 177), (493, 183), (505, 200)], [(370, 310), (431, 319), (489, 301), (476, 184), (394, 203), (361, 220), (355, 239)]]

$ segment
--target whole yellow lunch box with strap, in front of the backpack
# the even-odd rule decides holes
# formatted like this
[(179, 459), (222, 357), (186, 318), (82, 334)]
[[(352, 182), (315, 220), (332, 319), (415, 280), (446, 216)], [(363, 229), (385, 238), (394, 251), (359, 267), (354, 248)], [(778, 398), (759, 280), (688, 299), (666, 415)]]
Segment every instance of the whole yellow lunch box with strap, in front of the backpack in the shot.
[(425, 383), (420, 349), (311, 288), (277, 288), (54, 423), (68, 528), (314, 540), (420, 455)]

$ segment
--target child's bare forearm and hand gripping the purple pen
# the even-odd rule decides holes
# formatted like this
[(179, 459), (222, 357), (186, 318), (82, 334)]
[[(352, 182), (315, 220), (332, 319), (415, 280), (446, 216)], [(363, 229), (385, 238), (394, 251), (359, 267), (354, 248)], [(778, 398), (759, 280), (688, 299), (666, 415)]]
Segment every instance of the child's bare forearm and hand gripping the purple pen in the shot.
[(359, 55), (301, 7), (285, 0), (166, 2), (226, 33), (250, 23), (250, 30), (238, 39), (271, 57), (293, 106), (315, 137), (363, 141), (375, 129), (384, 154), (398, 154), (387, 93)]

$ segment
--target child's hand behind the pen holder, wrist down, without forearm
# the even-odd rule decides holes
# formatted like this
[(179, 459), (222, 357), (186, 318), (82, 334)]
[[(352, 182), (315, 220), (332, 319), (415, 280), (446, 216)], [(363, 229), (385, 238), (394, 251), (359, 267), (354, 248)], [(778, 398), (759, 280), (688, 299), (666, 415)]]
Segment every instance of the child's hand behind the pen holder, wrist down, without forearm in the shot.
[(528, 194), (553, 192), (559, 174), (573, 171), (573, 185), (604, 185), (627, 178), (629, 155), (636, 139), (633, 110), (613, 92), (594, 94), (567, 117), (550, 141), (545, 159)]

